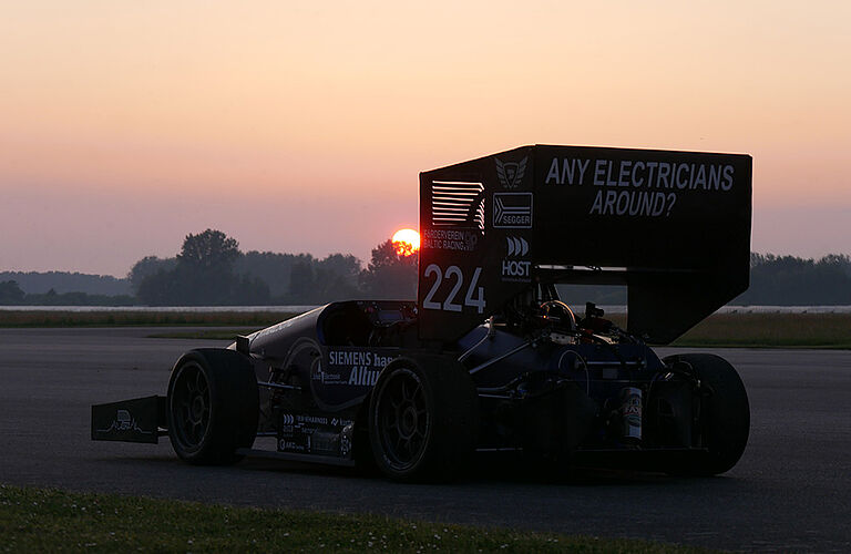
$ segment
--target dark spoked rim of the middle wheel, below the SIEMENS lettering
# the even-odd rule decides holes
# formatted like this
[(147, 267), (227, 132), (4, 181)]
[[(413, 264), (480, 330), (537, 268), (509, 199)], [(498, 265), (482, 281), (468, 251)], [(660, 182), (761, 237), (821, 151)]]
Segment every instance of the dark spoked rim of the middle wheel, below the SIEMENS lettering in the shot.
[(426, 451), (431, 414), (419, 376), (397, 370), (379, 391), (376, 420), (381, 450), (393, 470), (413, 466)]

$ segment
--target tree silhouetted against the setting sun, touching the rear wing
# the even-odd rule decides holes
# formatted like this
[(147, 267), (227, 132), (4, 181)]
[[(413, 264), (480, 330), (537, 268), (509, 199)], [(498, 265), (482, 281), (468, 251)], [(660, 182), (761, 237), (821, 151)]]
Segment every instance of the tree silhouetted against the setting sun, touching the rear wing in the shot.
[(371, 298), (417, 297), (417, 255), (400, 254), (391, 239), (372, 248), (372, 259), (360, 274), (360, 285)]

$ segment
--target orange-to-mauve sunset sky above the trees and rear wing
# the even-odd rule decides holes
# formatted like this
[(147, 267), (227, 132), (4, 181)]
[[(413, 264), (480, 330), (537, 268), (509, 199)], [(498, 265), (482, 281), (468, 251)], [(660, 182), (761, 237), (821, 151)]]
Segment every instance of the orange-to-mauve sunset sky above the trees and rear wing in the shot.
[(534, 143), (749, 153), (753, 249), (851, 252), (848, 2), (413, 6), (0, 4), (0, 270), (366, 260), (420, 171)]

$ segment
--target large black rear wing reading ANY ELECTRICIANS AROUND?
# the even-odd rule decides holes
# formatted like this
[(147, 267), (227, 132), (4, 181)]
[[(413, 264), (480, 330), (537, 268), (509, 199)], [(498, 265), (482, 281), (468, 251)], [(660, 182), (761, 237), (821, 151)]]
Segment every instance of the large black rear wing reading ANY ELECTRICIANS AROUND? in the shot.
[(420, 174), (420, 336), (450, 341), (537, 284), (628, 287), (667, 343), (748, 288), (751, 157), (523, 146)]

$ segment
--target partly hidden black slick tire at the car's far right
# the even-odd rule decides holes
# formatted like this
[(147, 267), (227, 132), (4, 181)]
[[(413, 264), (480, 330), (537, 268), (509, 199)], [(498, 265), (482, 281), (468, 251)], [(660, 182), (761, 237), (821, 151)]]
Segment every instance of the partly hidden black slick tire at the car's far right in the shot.
[(677, 355), (664, 361), (688, 363), (708, 389), (701, 398), (703, 429), (697, 430), (708, 450), (670, 473), (709, 476), (730, 470), (745, 452), (750, 433), (750, 404), (741, 378), (727, 360), (711, 353)]

